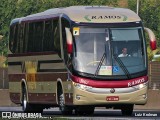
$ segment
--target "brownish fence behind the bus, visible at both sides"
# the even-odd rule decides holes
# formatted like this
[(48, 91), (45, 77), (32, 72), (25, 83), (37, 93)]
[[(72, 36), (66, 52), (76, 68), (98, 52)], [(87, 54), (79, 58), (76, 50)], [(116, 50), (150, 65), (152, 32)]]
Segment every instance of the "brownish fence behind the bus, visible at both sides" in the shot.
[[(149, 89), (160, 89), (160, 62), (150, 62), (148, 68)], [(8, 69), (0, 68), (0, 89), (8, 88)]]

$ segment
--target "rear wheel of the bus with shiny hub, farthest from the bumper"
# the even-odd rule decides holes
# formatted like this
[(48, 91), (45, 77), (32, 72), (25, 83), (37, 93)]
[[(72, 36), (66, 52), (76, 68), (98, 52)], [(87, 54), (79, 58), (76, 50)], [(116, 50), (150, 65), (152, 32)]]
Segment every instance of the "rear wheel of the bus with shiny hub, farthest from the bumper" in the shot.
[(25, 113), (42, 113), (43, 108), (40, 107), (39, 105), (31, 105), (27, 101), (27, 92), (26, 88), (22, 88), (22, 110)]

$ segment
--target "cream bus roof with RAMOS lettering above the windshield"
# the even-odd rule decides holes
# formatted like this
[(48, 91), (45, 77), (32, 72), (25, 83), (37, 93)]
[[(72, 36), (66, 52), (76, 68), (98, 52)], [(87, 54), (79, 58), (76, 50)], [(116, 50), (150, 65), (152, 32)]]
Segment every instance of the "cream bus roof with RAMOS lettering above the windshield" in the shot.
[(67, 15), (74, 22), (89, 23), (122, 23), (138, 22), (140, 17), (126, 8), (114, 8), (108, 6), (71, 6), (64, 8), (53, 8), (41, 13), (26, 16), (22, 21), (34, 19), (47, 19), (50, 17)]

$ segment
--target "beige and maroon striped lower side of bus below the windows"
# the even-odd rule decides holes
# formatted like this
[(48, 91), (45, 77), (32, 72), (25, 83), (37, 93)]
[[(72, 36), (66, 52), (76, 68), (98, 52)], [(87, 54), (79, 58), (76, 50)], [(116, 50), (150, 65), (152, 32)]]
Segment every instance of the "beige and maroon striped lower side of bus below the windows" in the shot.
[(67, 80), (66, 68), (57, 54), (9, 55), (8, 63), (13, 102), (21, 101), (21, 81), (24, 79), (29, 103), (57, 104), (57, 79)]

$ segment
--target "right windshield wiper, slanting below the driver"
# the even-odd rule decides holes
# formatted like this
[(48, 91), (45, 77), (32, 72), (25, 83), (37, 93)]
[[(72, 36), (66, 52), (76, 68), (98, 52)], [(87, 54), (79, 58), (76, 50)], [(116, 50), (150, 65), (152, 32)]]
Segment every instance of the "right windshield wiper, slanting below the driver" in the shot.
[(128, 79), (131, 78), (131, 75), (128, 71), (128, 69), (126, 68), (126, 66), (123, 64), (122, 60), (117, 57), (117, 55), (113, 55), (115, 60), (117, 61), (117, 63), (119, 64), (119, 66), (122, 68), (123, 72), (125, 73), (125, 75), (127, 76)]

